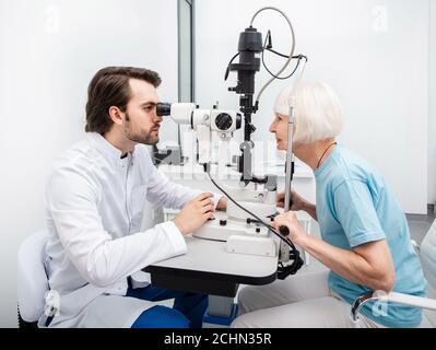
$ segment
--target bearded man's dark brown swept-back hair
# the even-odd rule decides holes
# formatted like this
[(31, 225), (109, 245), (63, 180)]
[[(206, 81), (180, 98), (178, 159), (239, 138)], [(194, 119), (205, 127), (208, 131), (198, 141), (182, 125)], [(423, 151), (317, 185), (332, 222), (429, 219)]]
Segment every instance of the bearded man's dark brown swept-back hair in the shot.
[(127, 110), (131, 95), (130, 79), (143, 80), (154, 88), (161, 85), (160, 75), (148, 69), (134, 67), (106, 67), (93, 78), (87, 89), (86, 132), (105, 135), (114, 121), (109, 116), (111, 106)]

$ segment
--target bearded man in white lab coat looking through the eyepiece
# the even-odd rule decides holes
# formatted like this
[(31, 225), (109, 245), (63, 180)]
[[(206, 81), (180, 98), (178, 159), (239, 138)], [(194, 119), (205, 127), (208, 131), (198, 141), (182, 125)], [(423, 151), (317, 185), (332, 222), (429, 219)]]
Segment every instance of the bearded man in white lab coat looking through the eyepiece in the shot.
[[(54, 164), (46, 187), (50, 295), (42, 327), (201, 327), (207, 296), (139, 283), (150, 264), (185, 254), (184, 235), (225, 198), (170, 183), (144, 144), (158, 141), (156, 72), (108, 67), (89, 86), (86, 137)], [(140, 232), (144, 201), (181, 209)], [(175, 299), (174, 307), (158, 301)]]

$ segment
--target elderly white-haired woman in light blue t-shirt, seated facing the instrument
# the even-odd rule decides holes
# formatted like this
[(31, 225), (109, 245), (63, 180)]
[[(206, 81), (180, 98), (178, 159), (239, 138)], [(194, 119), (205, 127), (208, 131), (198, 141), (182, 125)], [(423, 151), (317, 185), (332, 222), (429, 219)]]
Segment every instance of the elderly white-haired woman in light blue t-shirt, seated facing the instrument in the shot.
[[(234, 327), (351, 327), (352, 302), (369, 291), (424, 296), (426, 282), (411, 244), (408, 222), (382, 176), (335, 141), (341, 108), (322, 83), (299, 83), (279, 95), (270, 131), (286, 150), (290, 101), (295, 106), (294, 154), (316, 178), (316, 206), (293, 195), (293, 211), (279, 215), (291, 241), (329, 271), (301, 273), (238, 295)], [(283, 203), (279, 195), (279, 205)], [(294, 211), (318, 221), (321, 237), (308, 235)], [(366, 304), (361, 327), (422, 326), (419, 308)]]

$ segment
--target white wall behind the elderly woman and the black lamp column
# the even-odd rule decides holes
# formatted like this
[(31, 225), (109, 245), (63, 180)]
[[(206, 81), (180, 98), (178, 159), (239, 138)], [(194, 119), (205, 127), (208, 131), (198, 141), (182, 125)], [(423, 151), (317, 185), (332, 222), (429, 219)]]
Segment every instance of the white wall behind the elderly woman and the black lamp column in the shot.
[[(237, 108), (223, 75), (237, 51), (238, 35), (256, 10), (275, 5), (291, 18), (297, 52), (309, 57), (305, 78), (322, 80), (338, 92), (346, 117), (342, 143), (386, 176), (410, 213), (425, 213), (427, 203), (428, 0), (201, 0), (197, 1), (197, 103), (220, 101)], [(213, 19), (213, 20), (212, 20)], [(273, 45), (288, 51), (284, 21), (261, 14), (255, 27), (271, 28)], [(267, 61), (275, 70), (273, 57)], [(258, 75), (257, 88), (267, 74)], [(267, 91), (254, 118), (255, 140), (268, 135), (279, 82)]]

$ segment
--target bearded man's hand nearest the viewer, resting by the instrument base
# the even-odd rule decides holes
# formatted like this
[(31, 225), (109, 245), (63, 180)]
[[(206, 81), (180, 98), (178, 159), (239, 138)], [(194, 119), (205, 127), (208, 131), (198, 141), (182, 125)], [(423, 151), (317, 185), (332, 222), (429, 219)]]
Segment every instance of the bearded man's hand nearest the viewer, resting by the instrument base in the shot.
[(209, 219), (213, 219), (214, 202), (212, 194), (201, 194), (189, 201), (173, 220), (182, 235), (200, 229)]

